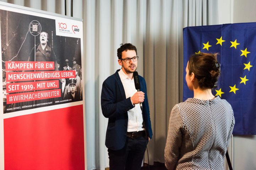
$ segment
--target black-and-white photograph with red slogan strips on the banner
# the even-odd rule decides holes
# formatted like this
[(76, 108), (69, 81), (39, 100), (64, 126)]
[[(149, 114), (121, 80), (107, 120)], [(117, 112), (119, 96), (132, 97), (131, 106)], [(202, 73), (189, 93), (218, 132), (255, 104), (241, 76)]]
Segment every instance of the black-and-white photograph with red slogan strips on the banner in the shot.
[(81, 101), (81, 39), (56, 35), (54, 19), (0, 16), (4, 113)]

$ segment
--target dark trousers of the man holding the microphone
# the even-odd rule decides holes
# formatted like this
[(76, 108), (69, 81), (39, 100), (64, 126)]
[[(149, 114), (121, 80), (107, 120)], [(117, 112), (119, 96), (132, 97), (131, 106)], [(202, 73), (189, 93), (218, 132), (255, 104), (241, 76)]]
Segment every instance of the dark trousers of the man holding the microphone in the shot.
[(110, 170), (140, 170), (148, 138), (141, 136), (136, 139), (126, 138), (121, 150), (108, 149)]

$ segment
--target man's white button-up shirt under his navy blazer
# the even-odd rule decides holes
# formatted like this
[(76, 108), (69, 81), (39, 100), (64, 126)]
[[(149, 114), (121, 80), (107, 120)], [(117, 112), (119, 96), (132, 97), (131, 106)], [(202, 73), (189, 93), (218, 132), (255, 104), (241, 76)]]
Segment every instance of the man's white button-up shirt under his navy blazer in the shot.
[[(122, 69), (120, 69), (118, 74), (121, 78), (122, 85), (124, 86), (126, 99), (133, 96), (137, 92), (134, 84), (134, 78), (130, 79), (124, 73), (124, 71), (122, 71)], [(132, 132), (132, 131), (145, 130), (143, 128), (142, 123), (143, 123), (143, 118), (142, 118), (142, 111), (140, 108), (140, 104), (135, 104), (135, 107), (128, 111), (127, 131)]]

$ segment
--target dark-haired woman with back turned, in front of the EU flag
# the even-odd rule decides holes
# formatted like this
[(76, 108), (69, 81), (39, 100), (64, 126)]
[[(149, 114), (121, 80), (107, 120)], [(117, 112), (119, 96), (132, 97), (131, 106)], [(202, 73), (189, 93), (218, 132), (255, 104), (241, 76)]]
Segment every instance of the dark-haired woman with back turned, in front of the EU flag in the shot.
[(164, 150), (168, 170), (224, 170), (235, 119), (230, 104), (211, 92), (219, 75), (217, 54), (193, 54), (187, 62), (194, 98), (171, 110)]

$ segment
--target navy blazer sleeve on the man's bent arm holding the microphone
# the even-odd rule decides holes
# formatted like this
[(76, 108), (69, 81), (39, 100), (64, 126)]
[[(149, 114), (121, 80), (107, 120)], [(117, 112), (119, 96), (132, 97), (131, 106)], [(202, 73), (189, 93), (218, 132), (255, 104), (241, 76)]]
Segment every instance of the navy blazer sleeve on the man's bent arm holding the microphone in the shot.
[(135, 107), (132, 105), (131, 98), (116, 102), (117, 97), (121, 98), (121, 94), (116, 92), (115, 84), (104, 81), (101, 91), (101, 109), (104, 117), (118, 117)]

